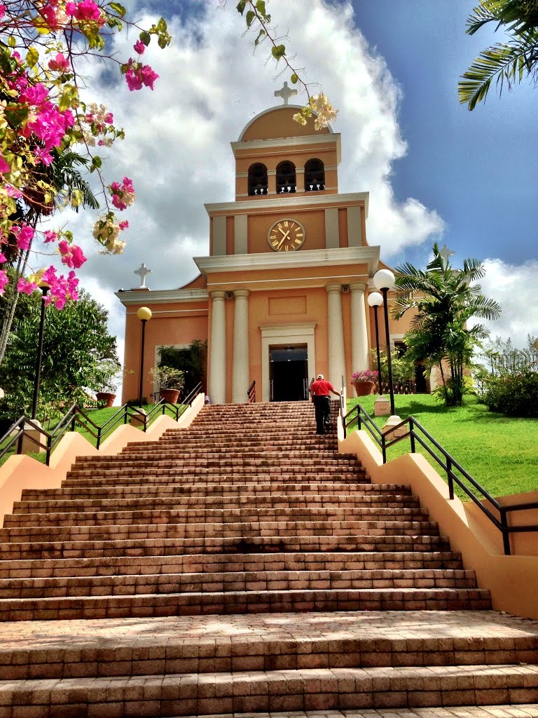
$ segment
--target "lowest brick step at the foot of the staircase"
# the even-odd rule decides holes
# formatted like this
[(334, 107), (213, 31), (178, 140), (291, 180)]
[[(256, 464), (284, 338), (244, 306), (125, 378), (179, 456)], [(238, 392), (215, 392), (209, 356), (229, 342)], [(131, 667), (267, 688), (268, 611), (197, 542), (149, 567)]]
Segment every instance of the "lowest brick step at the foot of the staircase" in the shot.
[(65, 679), (60, 684), (47, 680), (0, 683), (2, 704), (32, 706), (34, 717), (154, 718), (309, 710), (343, 710), (347, 715), (349, 709), (529, 704), (537, 691), (538, 666), (534, 664), (318, 668)]

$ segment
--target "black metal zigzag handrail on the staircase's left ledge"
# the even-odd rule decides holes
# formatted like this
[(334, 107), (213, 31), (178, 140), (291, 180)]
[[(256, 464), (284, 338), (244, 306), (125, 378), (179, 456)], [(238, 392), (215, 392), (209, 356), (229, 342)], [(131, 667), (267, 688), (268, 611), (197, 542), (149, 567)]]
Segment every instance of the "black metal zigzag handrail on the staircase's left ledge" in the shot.
[[(16, 444), (15, 453), (21, 454), (22, 442), (25, 438), (36, 445), (36, 451), (44, 449), (46, 453), (45, 463), (49, 466), (52, 450), (55, 449), (57, 443), (60, 442), (60, 439), (62, 439), (68, 431), (75, 431), (77, 424), (82, 426), (88, 434), (95, 439), (95, 447), (99, 449), (106, 434), (109, 434), (119, 424), (127, 424), (128, 420), (133, 416), (138, 417), (143, 432), (147, 431), (148, 426), (157, 414), (166, 414), (166, 411), (171, 412), (172, 418), (177, 421), (181, 414), (187, 410), (187, 407), (192, 404), (194, 397), (197, 396), (201, 389), (202, 383), (200, 382), (189, 392), (181, 404), (170, 404), (168, 401), (161, 399), (161, 401), (152, 406), (147, 413), (146, 411), (141, 411), (137, 406), (123, 404), (123, 406), (121, 406), (115, 414), (109, 416), (107, 421), (101, 426), (96, 424), (91, 416), (88, 416), (85, 410), (76, 404), (72, 404), (72, 406), (67, 409), (60, 421), (58, 421), (56, 426), (50, 431), (43, 429), (42, 426), (39, 426), (39, 424), (27, 416), (21, 416), (14, 424), (11, 424), (4, 436), (0, 438), (0, 446), (4, 447), (0, 451), (0, 461), (11, 451), (14, 444)], [(37, 432), (39, 439), (34, 437), (32, 433), (29, 433), (32, 432), (32, 430)], [(5, 446), (4, 442), (6, 442)]]

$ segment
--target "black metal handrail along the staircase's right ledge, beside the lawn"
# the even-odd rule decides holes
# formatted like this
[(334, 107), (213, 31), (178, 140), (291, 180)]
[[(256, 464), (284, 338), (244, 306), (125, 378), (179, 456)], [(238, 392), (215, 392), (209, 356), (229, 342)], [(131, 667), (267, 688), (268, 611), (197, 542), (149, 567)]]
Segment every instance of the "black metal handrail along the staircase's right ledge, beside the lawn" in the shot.
[[(428, 454), (430, 454), (433, 460), (435, 460), (435, 462), (437, 462), (438, 465), (446, 472), (448, 478), (448, 495), (450, 500), (453, 500), (454, 498), (454, 482), (456, 482), (458, 487), (461, 488), (461, 490), (466, 493), (466, 495), (468, 495), (468, 497), (473, 501), (473, 503), (478, 506), (482, 513), (484, 513), (485, 516), (489, 518), (489, 521), (491, 521), (491, 523), (493, 523), (494, 526), (498, 528), (499, 531), (501, 531), (505, 556), (511, 555), (511, 533), (538, 531), (538, 525), (534, 524), (527, 524), (525, 526), (508, 525), (508, 514), (511, 511), (536, 509), (538, 508), (538, 501), (522, 502), (508, 506), (501, 505), (501, 503), (499, 503), (496, 498), (491, 496), (491, 494), (485, 488), (483, 488), (478, 483), (478, 481), (474, 477), (472, 477), (471, 474), (466, 469), (464, 469), (463, 466), (458, 461), (456, 461), (456, 459), (454, 459), (454, 457), (449, 454), (443, 446), (441, 446), (441, 444), (432, 436), (432, 434), (430, 434), (430, 432), (428, 432), (427, 429), (424, 428), (424, 426), (422, 426), (415, 419), (414, 416), (408, 416), (407, 419), (400, 421), (400, 424), (391, 426), (390, 432), (384, 434), (379, 429), (379, 426), (377, 426), (377, 424), (372, 421), (372, 417), (369, 416), (367, 411), (365, 411), (360, 404), (357, 404), (345, 416), (342, 417), (344, 437), (346, 436), (347, 427), (349, 426), (349, 424), (354, 423), (354, 421), (357, 421), (358, 429), (361, 429), (362, 425), (364, 424), (364, 428), (367, 429), (368, 432), (372, 435), (372, 439), (374, 439), (374, 441), (379, 445), (379, 447), (381, 447), (384, 464), (387, 463), (387, 449), (389, 447), (409, 437), (411, 444), (411, 453), (415, 454), (415, 442), (418, 442), (423, 447), (423, 449), (425, 449)], [(387, 439), (387, 436), (394, 436), (397, 429), (402, 429), (404, 426), (407, 425), (409, 426), (409, 429), (407, 430), (407, 432), (405, 432), (405, 434), (402, 434), (402, 436), (398, 436), (393, 439)], [(435, 449), (440, 452), (443, 458), (441, 458), (433, 451), (433, 449), (425, 442), (424, 437), (428, 439), (431, 444), (433, 444)], [(488, 505), (484, 505), (482, 503), (482, 500), (478, 498), (478, 496), (473, 493), (473, 490), (463, 482), (463, 479), (455, 473), (455, 470), (458, 471), (463, 477), (463, 479), (467, 480), (471, 484), (471, 486), (482, 495), (482, 500), (486, 500), (487, 502), (489, 502), (489, 504), (491, 504), (494, 510), (497, 510), (499, 512), (499, 518), (493, 513), (493, 510), (491, 510)]]

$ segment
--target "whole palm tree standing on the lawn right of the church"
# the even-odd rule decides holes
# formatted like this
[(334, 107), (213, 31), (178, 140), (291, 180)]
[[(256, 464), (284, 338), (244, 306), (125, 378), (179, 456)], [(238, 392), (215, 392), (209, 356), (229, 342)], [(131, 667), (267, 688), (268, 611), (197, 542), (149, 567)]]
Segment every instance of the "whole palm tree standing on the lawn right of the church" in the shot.
[(396, 271), (398, 291), (393, 314), (400, 319), (409, 309), (416, 312), (405, 335), (407, 352), (412, 360), (424, 363), (428, 371), (437, 366), (445, 404), (461, 406), (464, 370), (471, 363), (478, 340), (489, 333), (480, 324), (468, 328), (467, 322), (471, 317), (497, 319), (501, 313), (499, 304), (483, 297), (476, 284), (485, 274), (483, 264), (466, 259), (463, 269), (454, 269), (435, 244), (433, 259), (425, 271), (408, 262)]

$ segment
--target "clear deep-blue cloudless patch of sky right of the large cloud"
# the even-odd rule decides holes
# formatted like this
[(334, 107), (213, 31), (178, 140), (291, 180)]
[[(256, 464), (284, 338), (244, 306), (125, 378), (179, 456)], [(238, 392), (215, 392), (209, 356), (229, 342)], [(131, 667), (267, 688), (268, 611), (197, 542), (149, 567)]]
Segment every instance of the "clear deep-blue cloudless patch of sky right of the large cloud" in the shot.
[(398, 119), (407, 140), (394, 165), (400, 196), (418, 197), (447, 224), (460, 260), (536, 258), (538, 90), (491, 90), (472, 112), (458, 103), (458, 78), (478, 51), (502, 42), (489, 28), (470, 36), (470, 0), (355, 1), (357, 25), (402, 88)]

